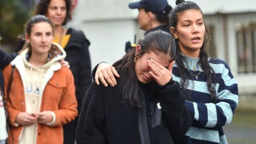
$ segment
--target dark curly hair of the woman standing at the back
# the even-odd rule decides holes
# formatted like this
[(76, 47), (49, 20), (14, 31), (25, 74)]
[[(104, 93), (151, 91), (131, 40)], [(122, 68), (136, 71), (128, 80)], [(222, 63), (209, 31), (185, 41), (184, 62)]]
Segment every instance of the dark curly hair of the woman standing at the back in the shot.
[[(69, 22), (72, 19), (71, 0), (64, 0), (64, 1), (66, 2), (67, 14), (66, 14), (64, 22), (62, 23), (62, 26), (66, 25), (67, 22)], [(46, 16), (50, 2), (51, 2), (51, 0), (40, 0), (40, 2), (38, 2), (37, 6), (36, 6), (35, 14), (41, 14), (41, 15)]]

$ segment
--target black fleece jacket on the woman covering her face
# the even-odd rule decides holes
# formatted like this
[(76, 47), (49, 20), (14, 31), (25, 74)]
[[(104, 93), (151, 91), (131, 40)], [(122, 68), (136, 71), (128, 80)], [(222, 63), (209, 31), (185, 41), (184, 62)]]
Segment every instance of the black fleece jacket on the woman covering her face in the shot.
[(77, 144), (174, 144), (186, 134), (192, 117), (178, 82), (140, 84), (142, 108), (122, 102), (119, 84), (91, 84), (78, 121)]

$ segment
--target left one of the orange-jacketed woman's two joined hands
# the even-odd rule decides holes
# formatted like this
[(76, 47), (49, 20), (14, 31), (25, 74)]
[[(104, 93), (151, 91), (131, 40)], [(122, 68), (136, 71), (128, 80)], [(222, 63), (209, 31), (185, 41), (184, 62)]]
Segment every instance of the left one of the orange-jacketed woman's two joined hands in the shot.
[(15, 122), (17, 122), (18, 124), (20, 124), (22, 126), (30, 126), (30, 125), (34, 124), (35, 122), (37, 122), (37, 118), (27, 112), (20, 112), (16, 116)]

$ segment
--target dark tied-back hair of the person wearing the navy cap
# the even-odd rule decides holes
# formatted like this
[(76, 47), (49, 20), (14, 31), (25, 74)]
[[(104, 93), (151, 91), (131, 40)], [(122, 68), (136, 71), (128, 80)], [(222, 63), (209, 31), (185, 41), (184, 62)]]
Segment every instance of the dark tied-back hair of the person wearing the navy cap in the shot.
[[(145, 8), (144, 8), (144, 9), (145, 9)], [(147, 10), (147, 9), (145, 9), (145, 11), (146, 11), (146, 12), (152, 12), (152, 11)], [(156, 13), (156, 12), (152, 12), (152, 13), (156, 16), (156, 20), (157, 20), (158, 22), (168, 24), (168, 22), (169, 22), (168, 14), (172, 11), (172, 6), (167, 5), (167, 6), (165, 7), (164, 11), (166, 12), (166, 13), (164, 13), (164, 14), (158, 14), (158, 13)]]

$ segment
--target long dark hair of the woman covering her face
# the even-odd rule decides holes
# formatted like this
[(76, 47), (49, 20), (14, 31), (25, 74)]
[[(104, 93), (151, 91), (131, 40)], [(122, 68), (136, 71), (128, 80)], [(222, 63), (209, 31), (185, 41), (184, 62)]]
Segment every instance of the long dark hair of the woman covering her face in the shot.
[[(136, 56), (142, 56), (146, 52), (154, 51), (158, 54), (166, 54), (171, 60), (176, 59), (176, 48), (171, 34), (162, 30), (149, 32), (145, 38), (139, 40), (141, 53)], [(128, 52), (123, 58), (113, 64), (120, 73), (121, 88), (124, 97), (123, 102), (128, 102), (133, 106), (140, 107), (139, 83), (134, 70), (135, 48)]]

